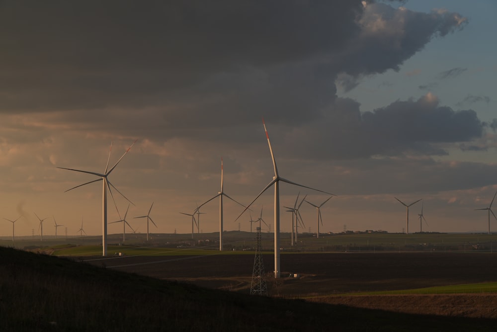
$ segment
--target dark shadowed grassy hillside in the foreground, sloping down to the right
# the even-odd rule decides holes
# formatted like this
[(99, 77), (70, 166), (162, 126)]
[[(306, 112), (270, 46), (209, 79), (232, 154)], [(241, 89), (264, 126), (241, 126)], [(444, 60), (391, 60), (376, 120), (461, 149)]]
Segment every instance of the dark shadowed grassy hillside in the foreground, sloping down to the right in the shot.
[(495, 321), (249, 296), (0, 248), (0, 331), (494, 331)]

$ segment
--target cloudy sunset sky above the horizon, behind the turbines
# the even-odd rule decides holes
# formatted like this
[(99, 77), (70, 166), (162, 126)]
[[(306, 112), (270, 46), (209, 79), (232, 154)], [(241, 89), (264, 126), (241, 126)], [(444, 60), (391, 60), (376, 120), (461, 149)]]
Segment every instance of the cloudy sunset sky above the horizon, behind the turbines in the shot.
[[(197, 205), (248, 204), (279, 175), (335, 194), (322, 232), (485, 232), (497, 190), (494, 0), (0, 1), (0, 210), (101, 235), (104, 172), (139, 233), (189, 233)], [(281, 231), (297, 195), (283, 183)], [(108, 221), (128, 201), (113, 190)], [(273, 229), (273, 189), (224, 230)], [(422, 205), (421, 205), (422, 204)], [(200, 231), (219, 231), (219, 203)], [(316, 231), (315, 208), (300, 212)], [(36, 213), (36, 215), (35, 215)], [(236, 220), (236, 221), (235, 221)], [(492, 230), (497, 220), (492, 217)], [(0, 223), (0, 236), (11, 234)], [(120, 223), (108, 233), (119, 233)], [(196, 231), (196, 230), (195, 230)], [(263, 231), (266, 231), (264, 229)], [(64, 234), (61, 228), (59, 234)]]

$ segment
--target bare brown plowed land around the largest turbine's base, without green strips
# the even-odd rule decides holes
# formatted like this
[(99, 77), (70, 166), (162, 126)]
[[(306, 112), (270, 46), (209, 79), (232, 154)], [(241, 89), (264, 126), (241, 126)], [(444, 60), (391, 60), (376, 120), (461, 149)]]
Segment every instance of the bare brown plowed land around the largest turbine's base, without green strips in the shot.
[[(430, 286), (495, 282), (497, 254), (491, 253), (289, 253), (281, 255), (274, 279), (274, 256), (263, 255), (271, 296), (312, 297), (347, 306), (415, 314), (497, 319), (497, 294), (336, 296)], [(249, 292), (252, 255), (128, 256), (90, 261), (160, 279)], [(299, 278), (288, 277), (297, 273)], [(334, 295), (334, 296), (325, 296)]]

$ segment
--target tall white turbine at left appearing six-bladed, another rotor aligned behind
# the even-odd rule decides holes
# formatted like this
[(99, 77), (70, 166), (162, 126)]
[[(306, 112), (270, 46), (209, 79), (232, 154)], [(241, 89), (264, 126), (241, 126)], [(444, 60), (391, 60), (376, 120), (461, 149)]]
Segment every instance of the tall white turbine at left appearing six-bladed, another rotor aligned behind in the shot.
[[(61, 169), (68, 169), (68, 170), (73, 170), (73, 171), (77, 171), (77, 172), (92, 174), (92, 175), (96, 175), (99, 177), (96, 180), (77, 185), (76, 187), (72, 187), (71, 189), (68, 189), (65, 192), (76, 189), (76, 188), (81, 187), (85, 184), (89, 184), (89, 183), (93, 183), (93, 182), (97, 182), (97, 181), (102, 181), (102, 255), (103, 256), (107, 255), (107, 188), (109, 189), (110, 196), (112, 197), (112, 200), (114, 201), (114, 205), (115, 205), (114, 195), (112, 194), (112, 190), (110, 190), (110, 187), (114, 188), (128, 202), (133, 204), (132, 201), (130, 201), (126, 196), (124, 196), (122, 194), (122, 192), (120, 192), (112, 183), (110, 183), (108, 176), (114, 170), (114, 168), (117, 166), (117, 164), (119, 164), (119, 162), (124, 158), (124, 156), (126, 156), (128, 151), (133, 147), (133, 145), (135, 145), (136, 142), (137, 141), (133, 142), (133, 144), (128, 148), (128, 150), (126, 150), (126, 152), (121, 156), (121, 158), (119, 158), (119, 160), (114, 164), (114, 166), (110, 167), (110, 169), (109, 169), (110, 153), (112, 152), (112, 143), (111, 143), (109, 157), (107, 159), (107, 165), (105, 166), (105, 171), (103, 173), (96, 173), (96, 172), (90, 172), (87, 170), (80, 170), (80, 169), (73, 169), (73, 168), (57, 167), (57, 168), (61, 168)], [(133, 205), (135, 205), (135, 204), (133, 204)], [(116, 206), (116, 209), (117, 209), (117, 206)]]

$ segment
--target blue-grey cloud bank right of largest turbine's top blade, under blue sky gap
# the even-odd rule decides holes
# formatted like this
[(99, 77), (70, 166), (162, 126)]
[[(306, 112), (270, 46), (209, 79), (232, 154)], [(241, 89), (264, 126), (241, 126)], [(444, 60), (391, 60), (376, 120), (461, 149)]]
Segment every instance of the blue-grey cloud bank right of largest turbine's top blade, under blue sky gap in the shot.
[(322, 121), (290, 132), (287, 146), (315, 159), (441, 156), (447, 154), (441, 143), (479, 138), (485, 126), (475, 111), (440, 106), (430, 93), (364, 113), (357, 102), (338, 98)]

